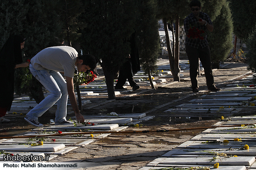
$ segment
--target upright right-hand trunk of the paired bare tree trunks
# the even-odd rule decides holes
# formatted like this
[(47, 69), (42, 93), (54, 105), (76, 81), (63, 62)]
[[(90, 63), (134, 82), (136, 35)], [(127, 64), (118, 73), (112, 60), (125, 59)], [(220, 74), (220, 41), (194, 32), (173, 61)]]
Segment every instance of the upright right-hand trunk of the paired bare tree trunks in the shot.
[(180, 55), (180, 17), (175, 16), (175, 62), (174, 62), (174, 74), (173, 81), (180, 82), (180, 67), (179, 67), (179, 55)]

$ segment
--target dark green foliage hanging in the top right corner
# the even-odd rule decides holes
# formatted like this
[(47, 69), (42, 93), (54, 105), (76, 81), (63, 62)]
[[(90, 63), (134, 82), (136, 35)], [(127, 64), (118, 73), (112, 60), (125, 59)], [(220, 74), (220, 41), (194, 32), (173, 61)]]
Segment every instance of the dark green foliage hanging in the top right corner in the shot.
[(234, 20), (234, 33), (240, 39), (247, 39), (256, 24), (255, 0), (230, 0)]

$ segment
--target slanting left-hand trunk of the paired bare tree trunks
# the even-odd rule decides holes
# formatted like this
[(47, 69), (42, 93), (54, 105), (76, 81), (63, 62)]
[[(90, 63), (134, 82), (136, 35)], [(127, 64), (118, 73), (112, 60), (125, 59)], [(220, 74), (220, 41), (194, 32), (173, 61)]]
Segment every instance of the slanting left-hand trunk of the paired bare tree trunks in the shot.
[(170, 42), (170, 36), (169, 36), (169, 31), (168, 31), (168, 26), (167, 26), (167, 19), (163, 18), (163, 22), (164, 22), (164, 32), (165, 32), (165, 36), (166, 36), (166, 44), (167, 44), (169, 61), (170, 61), (171, 73), (174, 74), (174, 57), (173, 57), (173, 53), (171, 51), (171, 42)]

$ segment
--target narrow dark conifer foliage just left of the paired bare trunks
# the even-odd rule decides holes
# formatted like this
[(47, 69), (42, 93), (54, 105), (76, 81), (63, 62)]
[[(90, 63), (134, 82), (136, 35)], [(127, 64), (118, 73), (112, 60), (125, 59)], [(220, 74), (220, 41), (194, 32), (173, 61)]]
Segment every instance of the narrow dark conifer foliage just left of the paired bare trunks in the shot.
[(158, 20), (156, 19), (156, 1), (139, 0), (138, 49), (142, 69), (149, 73), (156, 69), (156, 62), (161, 52), (159, 45)]

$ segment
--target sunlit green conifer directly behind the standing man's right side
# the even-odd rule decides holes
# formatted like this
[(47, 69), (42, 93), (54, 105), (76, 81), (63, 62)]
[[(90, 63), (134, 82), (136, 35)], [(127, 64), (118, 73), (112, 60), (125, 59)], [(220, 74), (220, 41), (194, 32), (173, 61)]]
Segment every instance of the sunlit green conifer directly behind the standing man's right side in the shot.
[(227, 58), (230, 50), (233, 48), (232, 33), (233, 23), (230, 8), (227, 2), (223, 3), (220, 15), (213, 21), (213, 32), (208, 33), (209, 48), (211, 58), (214, 63), (223, 61)]

